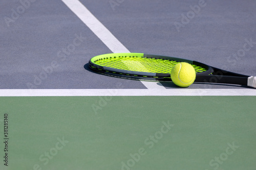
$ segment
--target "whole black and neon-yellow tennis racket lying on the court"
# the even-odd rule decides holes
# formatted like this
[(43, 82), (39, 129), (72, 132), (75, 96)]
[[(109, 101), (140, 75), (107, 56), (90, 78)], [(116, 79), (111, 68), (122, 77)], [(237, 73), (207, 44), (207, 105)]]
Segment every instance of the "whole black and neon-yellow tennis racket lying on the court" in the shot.
[(112, 53), (90, 59), (89, 67), (102, 74), (131, 79), (172, 81), (170, 71), (180, 62), (196, 70), (195, 82), (247, 85), (256, 88), (256, 77), (237, 74), (197, 61), (143, 53)]

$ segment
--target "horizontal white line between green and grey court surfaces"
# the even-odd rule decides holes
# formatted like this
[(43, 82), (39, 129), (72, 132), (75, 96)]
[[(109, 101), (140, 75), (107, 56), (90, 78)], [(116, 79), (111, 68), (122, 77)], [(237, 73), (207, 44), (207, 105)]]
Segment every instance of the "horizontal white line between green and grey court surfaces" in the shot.
[(256, 96), (256, 89), (0, 89), (0, 96)]

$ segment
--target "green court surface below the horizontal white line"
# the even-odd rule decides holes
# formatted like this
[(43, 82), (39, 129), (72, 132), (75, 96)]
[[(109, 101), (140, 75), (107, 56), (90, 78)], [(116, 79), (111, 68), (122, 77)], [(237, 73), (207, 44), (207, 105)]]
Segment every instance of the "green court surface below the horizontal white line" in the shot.
[(1, 97), (0, 102), (3, 170), (256, 167), (255, 96)]

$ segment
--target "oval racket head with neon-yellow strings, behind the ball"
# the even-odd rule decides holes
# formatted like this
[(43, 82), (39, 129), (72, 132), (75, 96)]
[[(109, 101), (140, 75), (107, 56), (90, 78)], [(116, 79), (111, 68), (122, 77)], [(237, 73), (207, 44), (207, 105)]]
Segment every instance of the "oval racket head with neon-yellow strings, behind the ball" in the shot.
[(90, 59), (89, 67), (102, 74), (141, 80), (172, 81), (170, 72), (180, 62), (191, 64), (196, 75), (209, 75), (209, 65), (182, 58), (148, 55), (143, 53), (111, 53)]

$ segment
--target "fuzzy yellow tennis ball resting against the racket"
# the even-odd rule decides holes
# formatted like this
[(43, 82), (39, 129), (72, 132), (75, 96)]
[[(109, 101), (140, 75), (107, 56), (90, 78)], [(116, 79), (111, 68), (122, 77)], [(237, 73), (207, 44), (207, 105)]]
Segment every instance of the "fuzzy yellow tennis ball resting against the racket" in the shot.
[(188, 87), (194, 83), (196, 79), (196, 71), (192, 65), (181, 62), (173, 67), (170, 72), (170, 78), (177, 86)]

